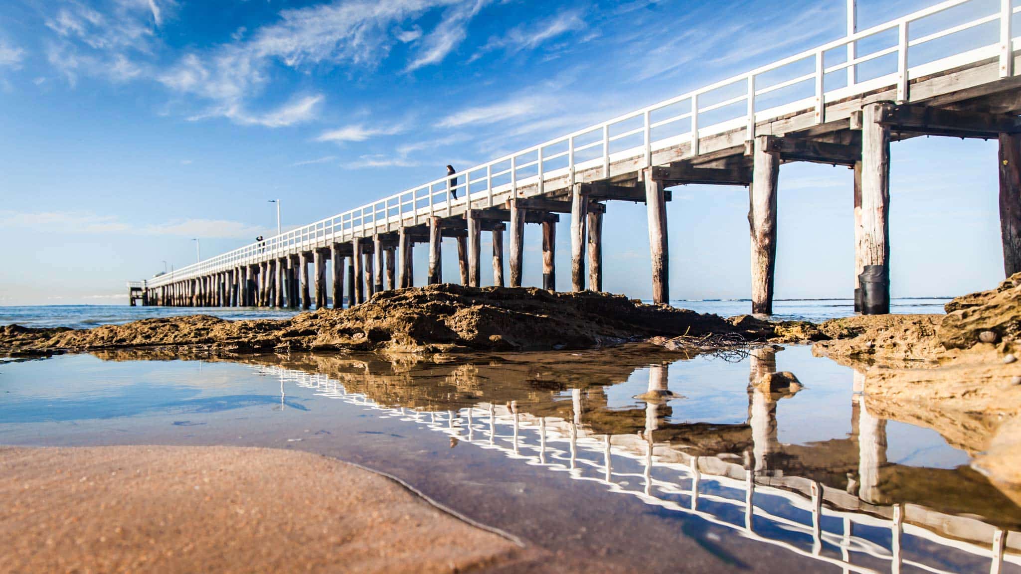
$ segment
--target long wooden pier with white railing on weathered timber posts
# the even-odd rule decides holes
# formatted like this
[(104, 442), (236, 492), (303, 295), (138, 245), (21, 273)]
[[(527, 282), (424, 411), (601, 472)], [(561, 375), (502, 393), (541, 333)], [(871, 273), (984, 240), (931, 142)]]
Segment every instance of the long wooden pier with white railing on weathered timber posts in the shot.
[[(993, 13), (972, 19), (953, 10), (965, 3), (949, 0), (858, 31), (857, 8), (848, 0), (844, 38), (153, 278), (141, 299), (310, 308), (313, 297), (315, 307), (326, 306), (329, 294), (339, 307), (346, 278), (346, 299), (357, 304), (377, 291), (414, 286), (417, 243), (429, 245), (428, 282), (443, 282), (445, 237), (456, 239), (460, 282), (481, 286), (483, 233), (491, 237), (494, 283), (502, 285), (504, 231), (507, 283), (519, 287), (528, 224), (542, 227), (541, 286), (553, 289), (561, 214), (570, 214), (571, 288), (601, 290), (602, 220), (612, 202), (631, 201), (646, 205), (652, 300), (667, 303), (670, 188), (708, 184), (748, 187), (751, 306), (756, 314), (771, 314), (781, 166), (811, 161), (854, 171), (847, 205), (855, 212), (856, 254), (848, 271), (856, 295), (861, 288), (880, 301), (868, 310), (887, 313), (888, 216), (896, 194), (890, 189), (890, 143), (919, 136), (1000, 142), (1004, 268), (1011, 275), (1021, 271), (1021, 78), (1015, 76), (1019, 45), (1012, 30), (1021, 7), (1002, 0)], [(931, 30), (934, 23), (938, 32), (912, 32), (913, 26)], [(931, 56), (937, 40), (995, 26), (996, 42)], [(895, 42), (860, 53), (863, 41), (873, 46), (886, 36)], [(909, 54), (929, 59), (909, 65)], [(888, 71), (860, 78), (862, 64), (874, 68), (890, 59)], [(457, 199), (451, 198), (454, 191)], [(871, 275), (859, 285), (863, 271)]]

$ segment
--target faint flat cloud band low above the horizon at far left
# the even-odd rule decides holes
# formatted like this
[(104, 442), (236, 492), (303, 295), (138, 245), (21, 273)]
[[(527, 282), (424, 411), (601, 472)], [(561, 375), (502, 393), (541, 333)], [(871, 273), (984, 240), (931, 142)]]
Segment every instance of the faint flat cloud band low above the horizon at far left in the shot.
[(130, 235), (175, 235), (181, 237), (251, 238), (264, 228), (225, 220), (175, 220), (161, 224), (136, 225), (115, 216), (89, 211), (0, 211), (0, 225), (48, 233)]

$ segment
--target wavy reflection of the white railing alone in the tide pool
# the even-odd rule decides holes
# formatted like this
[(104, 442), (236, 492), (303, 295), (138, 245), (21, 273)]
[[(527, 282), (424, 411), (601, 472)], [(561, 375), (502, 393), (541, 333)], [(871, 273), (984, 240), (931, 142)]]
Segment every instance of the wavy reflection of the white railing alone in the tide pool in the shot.
[[(327, 375), (309, 375), (279, 367), (253, 368), (279, 378), (282, 401), (285, 382), (312, 389), (321, 396), (378, 411), (381, 417), (395, 417), (425, 425), (458, 441), (498, 450), (523, 464), (564, 472), (571, 479), (602, 484), (612, 492), (634, 496), (647, 505), (696, 516), (744, 538), (839, 566), (845, 572), (877, 572), (874, 568), (856, 564), (855, 555), (860, 555), (867, 557), (862, 562), (873, 562), (874, 559), (885, 561), (892, 572), (898, 572), (902, 566), (913, 566), (928, 572), (950, 574), (938, 566), (903, 555), (902, 547), (908, 542), (918, 546), (923, 540), (939, 544), (946, 552), (988, 559), (990, 572), (1001, 572), (1004, 563), (1021, 565), (1021, 556), (1008, 551), (1008, 547), (1016, 549), (1015, 536), (1019, 533), (993, 527), (976, 518), (940, 515), (916, 505), (886, 508), (891, 514), (889, 519), (856, 510), (830, 508), (823, 504), (824, 499), (829, 500), (827, 491), (830, 489), (818, 482), (789, 477), (791, 481), (806, 483), (808, 495), (759, 484), (752, 473), (740, 465), (723, 463), (714, 457), (702, 457), (699, 461), (699, 458), (686, 453), (679, 455), (686, 462), (675, 462), (654, 452), (654, 449), (666, 450), (660, 444), (650, 444), (636, 435), (596, 434), (586, 430), (582, 424), (518, 413), (504, 405), (480, 403), (446, 412), (387, 406), (366, 394), (349, 392), (343, 383)], [(641, 472), (620, 470), (635, 465), (641, 467)], [(653, 468), (657, 470), (654, 474)], [(735, 507), (741, 511), (737, 520), (727, 512)], [(914, 524), (911, 522), (913, 517), (951, 530), (955, 522), (967, 523), (968, 527), (987, 534), (987, 537), (983, 544), (960, 539), (959, 533), (947, 536)], [(831, 519), (839, 519), (839, 531), (833, 528), (834, 521)], [(769, 527), (763, 528), (764, 524)], [(854, 533), (856, 526), (888, 529), (890, 543), (877, 543), (872, 536), (857, 536)], [(796, 542), (791, 534), (807, 535), (811, 544)], [(916, 540), (908, 540), (910, 537)], [(831, 549), (839, 549), (839, 557)]]

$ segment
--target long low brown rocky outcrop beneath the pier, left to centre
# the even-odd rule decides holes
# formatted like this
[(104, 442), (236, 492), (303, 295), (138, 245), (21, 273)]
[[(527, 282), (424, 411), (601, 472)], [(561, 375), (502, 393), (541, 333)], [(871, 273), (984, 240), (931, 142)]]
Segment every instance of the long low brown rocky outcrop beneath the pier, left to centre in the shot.
[(225, 353), (541, 350), (721, 333), (751, 340), (773, 335), (768, 324), (735, 326), (715, 315), (644, 304), (622, 295), (447, 284), (384, 291), (353, 308), (324, 308), (283, 321), (190, 316), (87, 330), (8, 326), (0, 332), (0, 352), (152, 347), (203, 347)]

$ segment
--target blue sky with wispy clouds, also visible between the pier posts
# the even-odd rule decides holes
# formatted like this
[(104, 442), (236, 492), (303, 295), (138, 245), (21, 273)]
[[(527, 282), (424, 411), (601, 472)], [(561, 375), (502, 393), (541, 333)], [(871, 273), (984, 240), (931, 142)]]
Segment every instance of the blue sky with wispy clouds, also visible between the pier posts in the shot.
[[(860, 0), (860, 27), (930, 3)], [(193, 262), (194, 237), (212, 255), (271, 234), (268, 199), (283, 200), (285, 228), (310, 223), (844, 26), (843, 0), (7, 0), (0, 304), (124, 302), (125, 280)], [(1002, 278), (995, 153), (994, 142), (893, 144), (894, 296)], [(846, 169), (782, 168), (778, 297), (850, 295), (850, 186)], [(747, 297), (746, 190), (686, 186), (674, 198), (671, 295)], [(607, 290), (650, 295), (645, 226), (641, 204), (607, 208)], [(525, 279), (538, 285), (531, 228)]]

